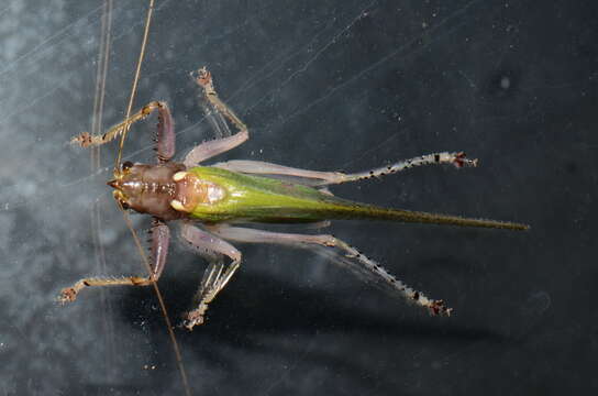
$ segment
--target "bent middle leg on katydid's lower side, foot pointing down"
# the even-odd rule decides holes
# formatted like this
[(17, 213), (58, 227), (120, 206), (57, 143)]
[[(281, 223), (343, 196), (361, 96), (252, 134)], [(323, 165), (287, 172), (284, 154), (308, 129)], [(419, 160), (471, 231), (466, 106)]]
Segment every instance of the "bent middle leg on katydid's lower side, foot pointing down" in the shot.
[[(206, 253), (212, 255), (217, 253), (215, 256), (210, 258), (210, 265), (203, 274), (203, 279), (196, 295), (197, 308), (187, 314), (184, 322), (187, 329), (192, 330), (193, 326), (203, 323), (208, 305), (226, 286), (236, 270), (239, 270), (241, 252), (220, 238), (188, 223), (182, 226), (181, 237), (203, 256), (206, 256)], [(232, 260), (232, 263), (225, 268), (221, 255)]]

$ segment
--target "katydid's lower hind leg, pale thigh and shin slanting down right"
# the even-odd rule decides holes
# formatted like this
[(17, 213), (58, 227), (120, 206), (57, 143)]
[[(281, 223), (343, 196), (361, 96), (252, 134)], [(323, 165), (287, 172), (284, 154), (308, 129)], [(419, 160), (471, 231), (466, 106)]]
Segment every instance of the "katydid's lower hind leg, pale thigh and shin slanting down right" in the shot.
[[(230, 226), (210, 226), (208, 227), (208, 230), (225, 240), (236, 242), (276, 243), (303, 249), (311, 249), (312, 246), (321, 248), (320, 250), (314, 250), (314, 252), (331, 258), (336, 264), (348, 267), (377, 285), (380, 285), (381, 282), (383, 286), (389, 287), (394, 292), (399, 292), (407, 300), (428, 308), (432, 315), (451, 315), (452, 309), (446, 308), (443, 300), (430, 299), (422, 293), (412, 289), (395, 276), (390, 275), (378, 263), (366, 257), (355, 248), (333, 235), (279, 233)], [(337, 249), (342, 254), (335, 254), (333, 249)]]

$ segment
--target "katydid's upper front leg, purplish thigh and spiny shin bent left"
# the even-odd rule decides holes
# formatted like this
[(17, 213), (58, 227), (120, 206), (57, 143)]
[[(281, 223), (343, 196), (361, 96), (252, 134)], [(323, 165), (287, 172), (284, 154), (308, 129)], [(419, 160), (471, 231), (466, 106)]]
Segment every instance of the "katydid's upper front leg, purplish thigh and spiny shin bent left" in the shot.
[(164, 163), (175, 155), (175, 122), (166, 102), (153, 101), (144, 106), (140, 111), (129, 117), (121, 123), (110, 128), (106, 133), (91, 135), (84, 132), (70, 140), (71, 144), (79, 144), (81, 147), (102, 145), (119, 138), (124, 131), (137, 121), (145, 119), (153, 111), (158, 111), (158, 127), (156, 134), (156, 151), (158, 163)]

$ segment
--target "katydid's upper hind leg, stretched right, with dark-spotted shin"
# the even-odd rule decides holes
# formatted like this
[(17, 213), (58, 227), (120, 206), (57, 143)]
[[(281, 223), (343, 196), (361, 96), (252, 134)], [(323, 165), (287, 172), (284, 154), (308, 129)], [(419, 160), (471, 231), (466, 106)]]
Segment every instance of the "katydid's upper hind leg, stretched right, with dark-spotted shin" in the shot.
[(468, 160), (465, 153), (434, 153), (421, 155), (410, 160), (399, 161), (388, 166), (381, 166), (370, 170), (358, 172), (354, 174), (345, 174), (342, 172), (317, 172), (308, 169), (299, 169), (261, 161), (244, 161), (233, 160), (228, 162), (218, 163), (213, 166), (246, 173), (246, 174), (259, 174), (259, 175), (283, 175), (300, 177), (306, 179), (314, 179), (313, 183), (307, 183), (312, 186), (326, 186), (342, 183), (357, 182), (373, 177), (380, 177), (388, 174), (398, 173), (412, 167), (422, 165), (435, 165), (435, 164), (452, 164), (457, 168), (464, 166), (477, 166), (477, 160)]

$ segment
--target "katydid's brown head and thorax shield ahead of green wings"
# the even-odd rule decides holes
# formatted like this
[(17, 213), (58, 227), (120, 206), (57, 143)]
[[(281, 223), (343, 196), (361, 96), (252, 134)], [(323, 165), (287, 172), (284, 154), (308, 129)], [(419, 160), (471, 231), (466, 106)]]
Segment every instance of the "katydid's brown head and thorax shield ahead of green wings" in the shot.
[(114, 179), (108, 185), (114, 188), (112, 195), (121, 208), (175, 220), (181, 213), (170, 206), (176, 195), (173, 175), (184, 169), (185, 165), (177, 163), (144, 165), (125, 162), (114, 170)]

